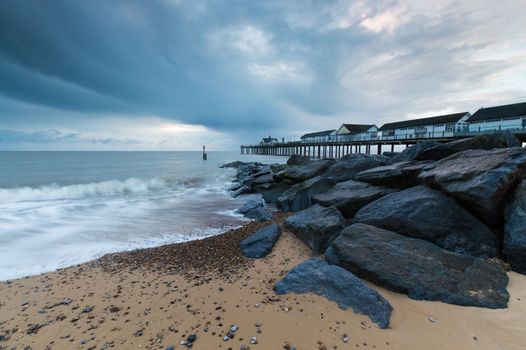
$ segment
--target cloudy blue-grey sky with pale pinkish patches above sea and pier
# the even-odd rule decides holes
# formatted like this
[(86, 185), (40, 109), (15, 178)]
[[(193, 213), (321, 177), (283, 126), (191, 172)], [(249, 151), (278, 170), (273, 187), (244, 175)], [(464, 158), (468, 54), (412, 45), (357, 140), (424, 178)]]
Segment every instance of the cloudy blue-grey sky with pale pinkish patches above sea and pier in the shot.
[(526, 101), (524, 0), (0, 1), (0, 150), (237, 150)]

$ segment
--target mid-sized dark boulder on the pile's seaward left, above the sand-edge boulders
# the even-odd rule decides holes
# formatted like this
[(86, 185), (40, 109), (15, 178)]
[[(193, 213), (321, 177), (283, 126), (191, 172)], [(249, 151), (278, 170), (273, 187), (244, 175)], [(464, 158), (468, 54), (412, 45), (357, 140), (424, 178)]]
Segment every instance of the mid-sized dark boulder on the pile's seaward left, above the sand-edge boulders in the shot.
[(312, 205), (312, 197), (334, 186), (335, 182), (321, 176), (293, 185), (278, 198), (277, 206), (282, 211), (300, 211)]

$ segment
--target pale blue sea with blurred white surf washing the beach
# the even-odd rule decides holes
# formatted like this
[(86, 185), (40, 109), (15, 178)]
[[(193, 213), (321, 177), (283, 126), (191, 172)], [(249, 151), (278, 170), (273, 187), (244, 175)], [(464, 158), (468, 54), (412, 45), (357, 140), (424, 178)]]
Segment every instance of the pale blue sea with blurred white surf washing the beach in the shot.
[(239, 152), (0, 152), (0, 280), (239, 227)]

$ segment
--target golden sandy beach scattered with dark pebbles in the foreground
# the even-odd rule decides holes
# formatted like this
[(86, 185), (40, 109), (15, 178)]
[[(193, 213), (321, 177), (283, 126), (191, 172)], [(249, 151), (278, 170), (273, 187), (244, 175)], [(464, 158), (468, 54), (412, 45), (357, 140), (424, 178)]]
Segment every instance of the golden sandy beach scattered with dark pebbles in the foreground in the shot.
[[(380, 330), (322, 297), (275, 295), (275, 281), (310, 253), (284, 232), (268, 257), (244, 259), (238, 243), (260, 226), (2, 282), (0, 336), (8, 339), (0, 349), (184, 349), (179, 343), (190, 334), (193, 349), (207, 350), (283, 349), (285, 342), (298, 350), (526, 349), (526, 276), (509, 273), (505, 310), (415, 301), (374, 287), (394, 308), (391, 327)], [(87, 306), (93, 309), (83, 312)], [(224, 341), (232, 324), (239, 330)]]

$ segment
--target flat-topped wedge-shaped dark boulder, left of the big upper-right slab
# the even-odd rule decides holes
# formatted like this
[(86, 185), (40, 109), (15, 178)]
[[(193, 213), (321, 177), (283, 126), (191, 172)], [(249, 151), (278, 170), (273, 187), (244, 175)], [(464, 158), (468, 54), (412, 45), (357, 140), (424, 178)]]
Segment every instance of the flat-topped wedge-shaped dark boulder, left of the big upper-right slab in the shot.
[(406, 161), (372, 168), (356, 174), (355, 180), (372, 185), (407, 188), (417, 185), (417, 176), (430, 161)]

